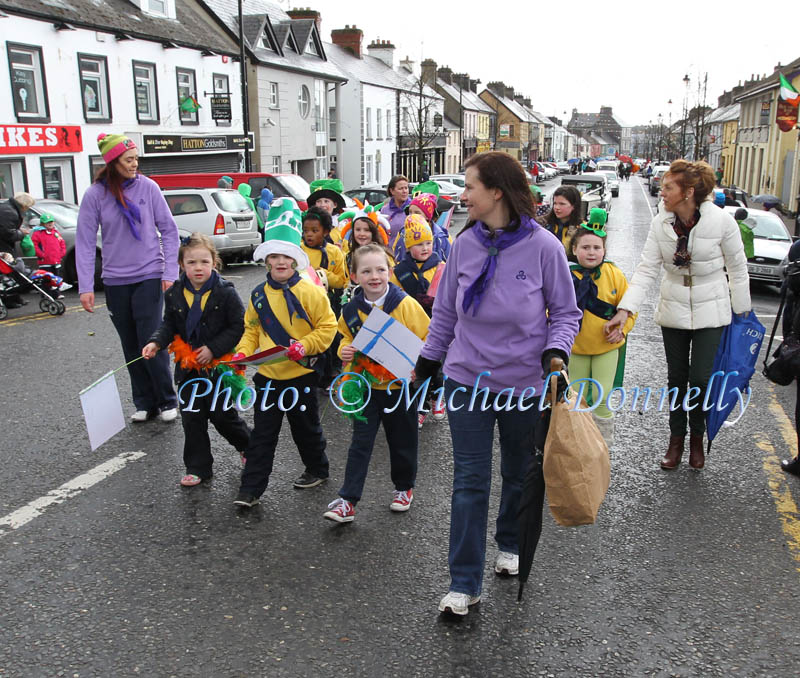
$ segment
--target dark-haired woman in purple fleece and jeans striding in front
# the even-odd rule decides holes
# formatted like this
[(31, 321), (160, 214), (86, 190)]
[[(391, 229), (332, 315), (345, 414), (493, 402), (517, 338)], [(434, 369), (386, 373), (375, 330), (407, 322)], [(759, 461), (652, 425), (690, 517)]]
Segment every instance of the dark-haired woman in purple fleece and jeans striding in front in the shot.
[[(494, 428), (503, 486), (495, 571), (519, 572), (517, 512), (526, 466), (546, 428), (538, 409), (551, 357), (568, 359), (581, 320), (564, 247), (534, 221), (522, 166), (505, 153), (466, 163), (469, 222), (456, 238), (416, 366), (444, 360), (453, 440), (450, 591), (439, 610), (465, 615), (480, 600)], [(538, 425), (538, 427), (537, 427)]]

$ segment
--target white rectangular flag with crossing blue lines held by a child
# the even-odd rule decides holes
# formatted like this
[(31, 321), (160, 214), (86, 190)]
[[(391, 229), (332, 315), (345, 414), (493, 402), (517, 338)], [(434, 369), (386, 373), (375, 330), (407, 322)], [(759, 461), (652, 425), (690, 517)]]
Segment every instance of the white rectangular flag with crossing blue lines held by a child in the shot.
[(353, 338), (353, 348), (361, 351), (398, 379), (411, 379), (425, 342), (399, 320), (373, 308)]

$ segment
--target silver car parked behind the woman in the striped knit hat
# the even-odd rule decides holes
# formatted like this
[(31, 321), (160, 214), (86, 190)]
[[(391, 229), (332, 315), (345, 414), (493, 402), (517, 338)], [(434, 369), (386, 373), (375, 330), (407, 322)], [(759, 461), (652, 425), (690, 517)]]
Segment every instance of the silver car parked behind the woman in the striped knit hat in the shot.
[(183, 238), (204, 233), (223, 261), (249, 261), (261, 243), (256, 215), (238, 191), (222, 188), (167, 188), (169, 210)]

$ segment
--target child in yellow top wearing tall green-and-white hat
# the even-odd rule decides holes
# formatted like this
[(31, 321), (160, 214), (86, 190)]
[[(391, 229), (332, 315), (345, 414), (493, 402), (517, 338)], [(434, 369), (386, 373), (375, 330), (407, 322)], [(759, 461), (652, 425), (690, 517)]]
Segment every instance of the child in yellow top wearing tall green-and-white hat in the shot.
[(267, 282), (250, 295), (237, 355), (280, 345), (289, 347), (289, 361), (263, 364), (253, 378), (258, 392), (254, 428), (244, 453), (239, 494), (233, 502), (237, 506), (255, 506), (267, 489), (284, 412), (305, 466), (294, 486), (315, 487), (328, 478), (317, 403), (318, 375), (313, 368), (333, 342), (336, 316), (322, 288), (297, 273), (298, 268), (308, 266), (300, 247), (301, 230), (297, 203), (279, 198), (270, 207), (265, 242), (254, 253), (256, 261), (266, 258)]

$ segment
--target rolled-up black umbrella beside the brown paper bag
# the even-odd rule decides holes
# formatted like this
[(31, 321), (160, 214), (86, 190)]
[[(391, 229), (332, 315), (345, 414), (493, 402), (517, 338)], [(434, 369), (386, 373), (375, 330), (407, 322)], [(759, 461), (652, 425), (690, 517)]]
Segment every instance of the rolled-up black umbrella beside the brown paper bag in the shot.
[[(563, 362), (554, 358), (550, 363), (550, 372), (560, 372)], [(558, 377), (551, 377), (558, 379)], [(559, 384), (559, 391), (562, 384)], [(566, 388), (564, 380), (563, 388)], [(517, 601), (522, 600), (522, 591), (528, 581), (533, 566), (533, 556), (536, 547), (539, 545), (539, 537), (542, 536), (542, 511), (544, 508), (544, 472), (542, 462), (544, 460), (544, 443), (547, 439), (547, 431), (550, 428), (550, 414), (552, 409), (539, 412), (539, 419), (536, 422), (533, 433), (533, 453), (531, 454), (528, 470), (525, 479), (522, 481), (522, 492), (519, 499), (519, 513), (517, 514), (517, 530), (519, 540), (519, 592)]]

